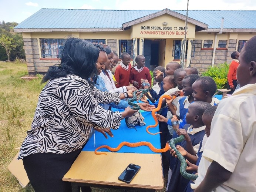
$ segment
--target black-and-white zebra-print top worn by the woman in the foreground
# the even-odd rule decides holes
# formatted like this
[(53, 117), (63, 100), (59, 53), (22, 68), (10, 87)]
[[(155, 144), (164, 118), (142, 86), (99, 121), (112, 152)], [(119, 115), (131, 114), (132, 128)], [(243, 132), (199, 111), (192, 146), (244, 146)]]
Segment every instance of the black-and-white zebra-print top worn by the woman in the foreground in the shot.
[(120, 93), (102, 92), (75, 75), (50, 80), (39, 95), (31, 130), (18, 159), (80, 149), (92, 127), (118, 129), (122, 114), (106, 111), (98, 103), (118, 104), (119, 97)]

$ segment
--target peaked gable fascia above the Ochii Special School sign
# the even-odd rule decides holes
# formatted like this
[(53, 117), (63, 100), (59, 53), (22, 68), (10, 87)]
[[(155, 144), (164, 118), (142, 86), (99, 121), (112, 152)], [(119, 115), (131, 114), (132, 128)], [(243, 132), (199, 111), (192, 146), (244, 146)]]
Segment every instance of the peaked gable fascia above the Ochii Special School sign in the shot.
[[(161, 16), (163, 14), (169, 14), (171, 16), (174, 16), (174, 17), (177, 17), (183, 21), (186, 21), (186, 16), (180, 14), (180, 13), (176, 13), (175, 11), (171, 11), (169, 9), (164, 9), (162, 11), (158, 11), (156, 13), (152, 13), (152, 14), (149, 14), (147, 16), (144, 16), (144, 17), (141, 17), (141, 18), (138, 18), (138, 19), (135, 19), (135, 20), (132, 20), (132, 21), (129, 21), (127, 23), (123, 23), (122, 26), (123, 28), (126, 28), (126, 27), (130, 27), (130, 26), (133, 26), (135, 24), (138, 24), (138, 23), (142, 23), (144, 21), (147, 21), (147, 20), (150, 20), (152, 18), (155, 18), (155, 17), (158, 17), (158, 16)], [(196, 26), (199, 26), (199, 27), (202, 27), (202, 28), (205, 28), (205, 29), (208, 29), (208, 25), (205, 24), (205, 23), (202, 23), (200, 21), (197, 21), (193, 18), (190, 18), (188, 17), (188, 20), (187, 20), (189, 23), (192, 23)]]

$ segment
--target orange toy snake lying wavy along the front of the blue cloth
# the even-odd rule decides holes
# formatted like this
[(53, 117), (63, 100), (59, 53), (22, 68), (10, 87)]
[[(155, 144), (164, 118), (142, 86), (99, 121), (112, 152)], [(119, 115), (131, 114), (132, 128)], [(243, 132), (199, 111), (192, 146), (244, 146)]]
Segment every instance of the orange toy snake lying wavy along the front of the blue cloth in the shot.
[(95, 149), (94, 153), (95, 153), (96, 155), (102, 155), (102, 154), (107, 155), (107, 154), (104, 153), (104, 152), (97, 152), (97, 151), (98, 151), (99, 149), (101, 149), (101, 148), (107, 148), (107, 149), (110, 150), (110, 151), (119, 151), (119, 150), (122, 148), (122, 146), (124, 146), (124, 145), (129, 146), (129, 147), (148, 146), (149, 149), (151, 149), (151, 151), (156, 152), (156, 153), (162, 153), (162, 152), (166, 152), (166, 151), (169, 150), (169, 144), (168, 144), (168, 143), (166, 143), (165, 148), (163, 148), (163, 149), (156, 149), (150, 142), (141, 141), (141, 142), (137, 142), (137, 143), (129, 143), (129, 142), (124, 141), (124, 142), (121, 142), (121, 143), (117, 146), (117, 148), (112, 148), (112, 147), (110, 147), (110, 146), (108, 146), (108, 145), (99, 146), (97, 149)]

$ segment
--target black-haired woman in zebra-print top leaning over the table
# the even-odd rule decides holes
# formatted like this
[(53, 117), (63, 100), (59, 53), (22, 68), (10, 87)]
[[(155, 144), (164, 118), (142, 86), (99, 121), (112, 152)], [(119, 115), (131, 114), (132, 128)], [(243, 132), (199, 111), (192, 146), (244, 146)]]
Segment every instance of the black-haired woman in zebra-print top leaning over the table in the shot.
[[(61, 53), (61, 64), (49, 68), (48, 81), (39, 95), (31, 129), (20, 148), (31, 185), (36, 192), (69, 192), (71, 184), (62, 181), (88, 140), (92, 127), (111, 135), (120, 121), (136, 112), (106, 111), (98, 103), (118, 104), (132, 92), (101, 92), (88, 81), (97, 74), (99, 51), (90, 42), (69, 38)], [(90, 191), (83, 188), (82, 191)]]

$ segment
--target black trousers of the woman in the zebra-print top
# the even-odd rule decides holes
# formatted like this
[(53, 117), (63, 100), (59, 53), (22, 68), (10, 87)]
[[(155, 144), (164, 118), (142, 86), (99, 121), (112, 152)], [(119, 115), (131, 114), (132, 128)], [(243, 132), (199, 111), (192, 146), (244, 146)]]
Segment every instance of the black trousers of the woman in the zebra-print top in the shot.
[[(77, 149), (68, 154), (37, 153), (23, 158), (28, 179), (36, 192), (71, 192), (71, 183), (62, 181), (63, 176), (80, 154)], [(82, 187), (82, 192), (91, 192)]]

